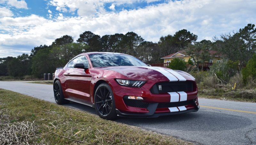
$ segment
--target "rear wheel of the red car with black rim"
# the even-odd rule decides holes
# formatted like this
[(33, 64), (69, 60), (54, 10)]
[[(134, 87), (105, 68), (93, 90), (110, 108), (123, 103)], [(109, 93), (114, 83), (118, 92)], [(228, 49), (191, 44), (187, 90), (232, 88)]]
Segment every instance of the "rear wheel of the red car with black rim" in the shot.
[(55, 83), (53, 84), (53, 92), (54, 92), (54, 99), (57, 104), (61, 105), (61, 104), (69, 103), (69, 100), (64, 99), (64, 95), (63, 95), (59, 80), (56, 80)]

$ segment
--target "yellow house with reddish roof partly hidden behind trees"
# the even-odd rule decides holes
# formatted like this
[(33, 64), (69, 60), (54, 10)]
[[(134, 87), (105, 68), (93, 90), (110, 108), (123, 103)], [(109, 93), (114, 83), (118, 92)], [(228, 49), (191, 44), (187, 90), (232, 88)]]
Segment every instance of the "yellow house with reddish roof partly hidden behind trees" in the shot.
[[(212, 56), (212, 58), (208, 62), (205, 62), (205, 63), (216, 63), (216, 62), (221, 61), (221, 55), (217, 55), (216, 54), (217, 51), (209, 50), (209, 53)], [(164, 59), (164, 63), (169, 63), (174, 58), (180, 58), (180, 59), (184, 59), (185, 61), (188, 61), (189, 59), (191, 59), (191, 56), (187, 55), (186, 50), (181, 50), (176, 53), (172, 53), (170, 55), (162, 57), (161, 59)]]

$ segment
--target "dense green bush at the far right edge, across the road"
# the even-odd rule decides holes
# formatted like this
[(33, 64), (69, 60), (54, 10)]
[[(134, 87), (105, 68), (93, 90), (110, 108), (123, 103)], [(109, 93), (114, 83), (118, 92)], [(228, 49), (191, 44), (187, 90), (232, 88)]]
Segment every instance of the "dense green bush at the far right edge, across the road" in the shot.
[(243, 81), (248, 82), (248, 77), (251, 76), (252, 79), (256, 79), (256, 55), (254, 54), (252, 58), (248, 61), (245, 68), (242, 69)]

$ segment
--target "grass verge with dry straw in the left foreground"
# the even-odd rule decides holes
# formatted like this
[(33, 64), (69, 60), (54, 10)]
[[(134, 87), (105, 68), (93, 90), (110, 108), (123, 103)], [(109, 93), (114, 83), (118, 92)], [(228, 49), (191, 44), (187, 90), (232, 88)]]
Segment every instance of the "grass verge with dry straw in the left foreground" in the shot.
[(192, 144), (4, 89), (0, 128), (0, 142), (9, 137), (29, 144)]

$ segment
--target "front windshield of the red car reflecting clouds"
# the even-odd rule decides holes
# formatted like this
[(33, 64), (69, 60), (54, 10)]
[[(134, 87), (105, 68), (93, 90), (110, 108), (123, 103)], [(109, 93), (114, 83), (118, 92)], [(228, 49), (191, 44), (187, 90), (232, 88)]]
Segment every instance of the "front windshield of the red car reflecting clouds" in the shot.
[(90, 54), (93, 67), (105, 66), (148, 66), (138, 58), (124, 54)]

